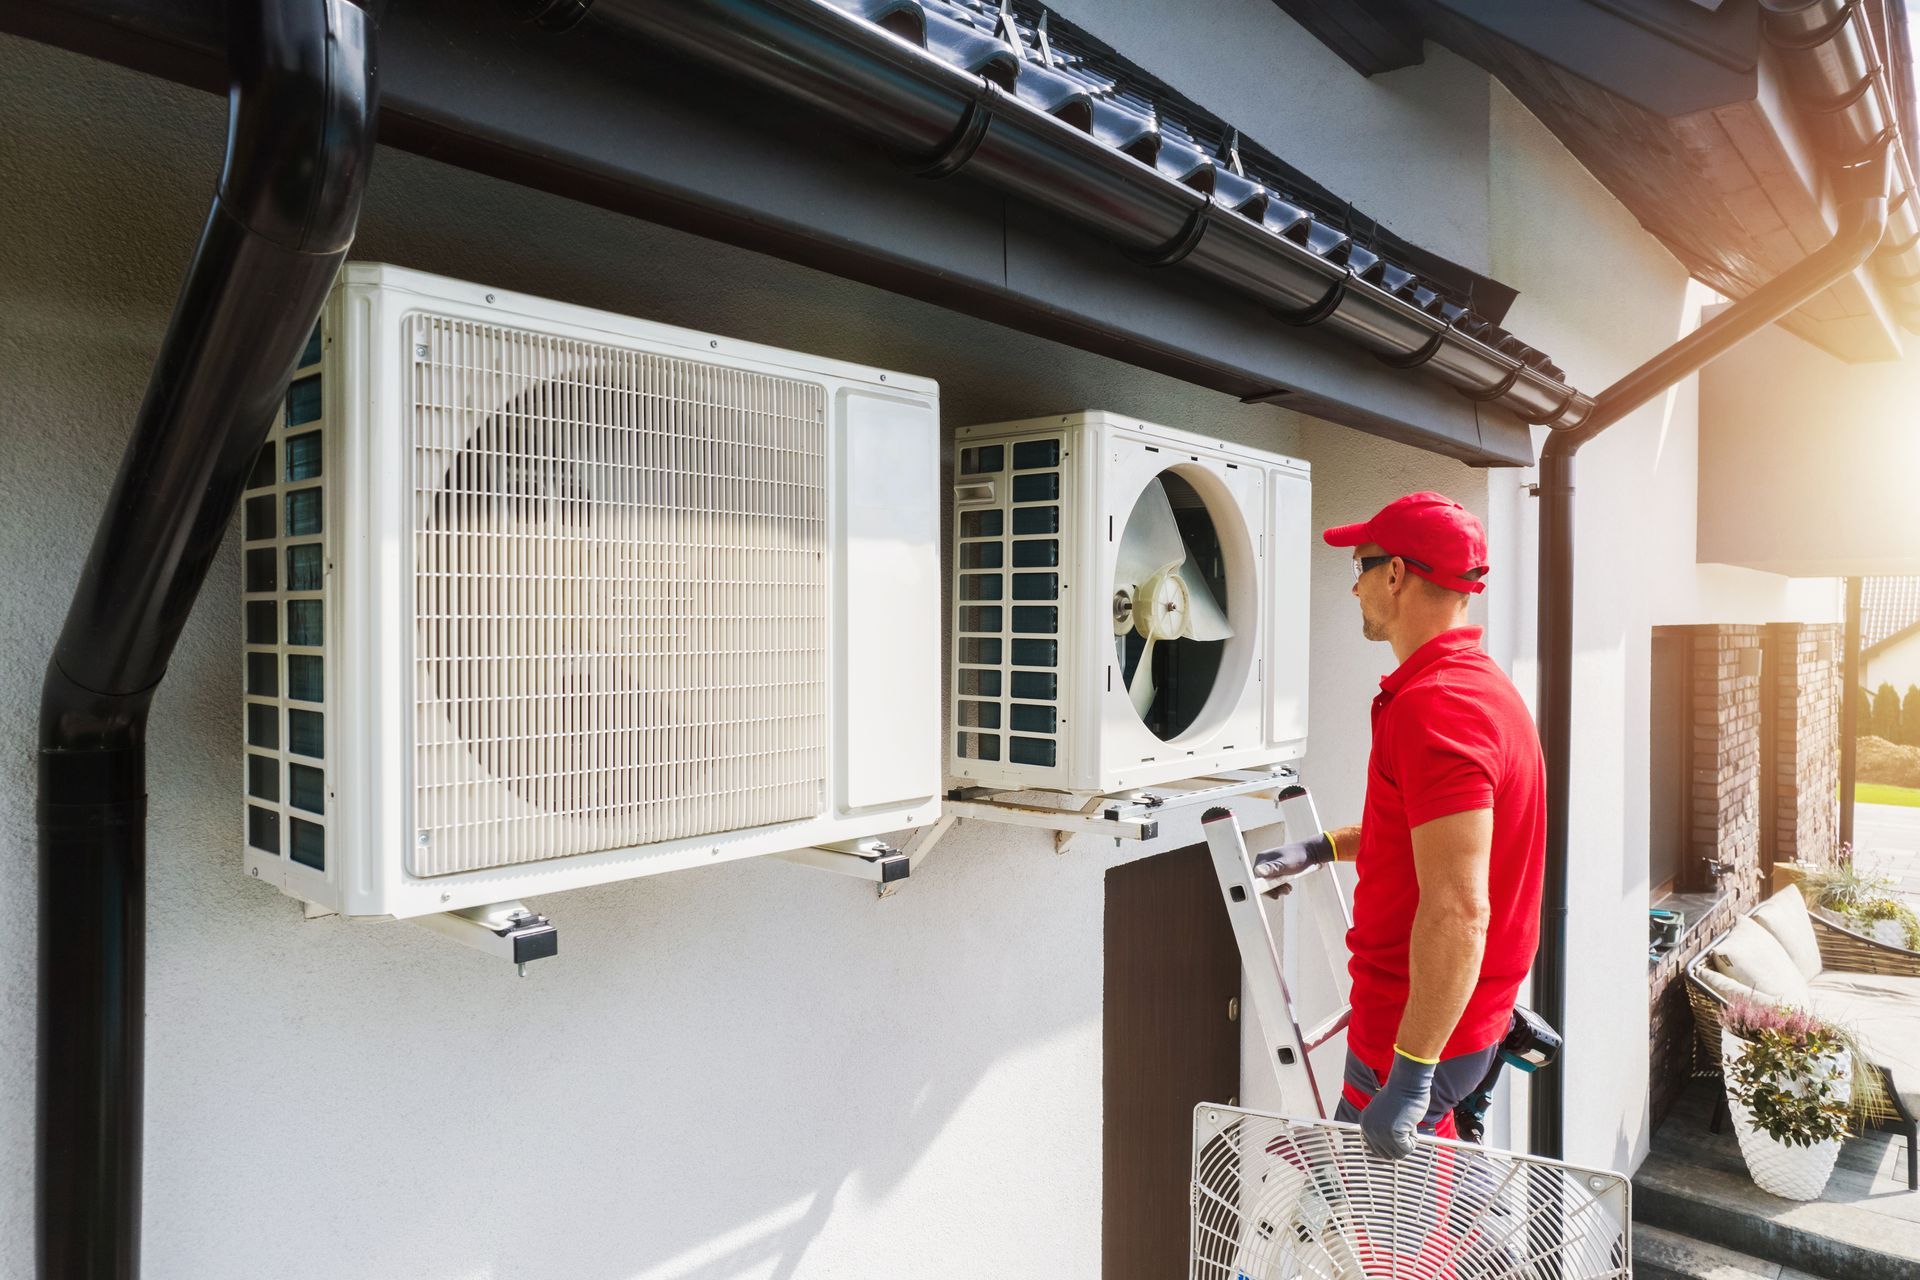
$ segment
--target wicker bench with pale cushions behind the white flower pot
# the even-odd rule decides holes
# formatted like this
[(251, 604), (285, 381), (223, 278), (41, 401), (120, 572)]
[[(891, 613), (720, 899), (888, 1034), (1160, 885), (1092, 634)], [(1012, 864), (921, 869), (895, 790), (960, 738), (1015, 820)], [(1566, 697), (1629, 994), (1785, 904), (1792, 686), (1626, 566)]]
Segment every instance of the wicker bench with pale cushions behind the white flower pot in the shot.
[[(1786, 902), (1786, 894), (1793, 894), (1791, 902)], [(1757, 919), (1761, 917), (1761, 919)], [(1743, 935), (1741, 942), (1751, 948), (1753, 935), (1751, 929), (1782, 929), (1793, 933), (1799, 929), (1795, 921), (1807, 921), (1811, 925), (1811, 935), (1818, 946), (1818, 969), (1807, 973), (1807, 960), (1801, 960), (1799, 969), (1807, 979), (1807, 984), (1797, 990), (1791, 988), (1791, 981), (1780, 979), (1770, 983), (1782, 990), (1766, 990), (1768, 983), (1741, 983), (1724, 971), (1720, 948), (1728, 946), (1736, 935)], [(1745, 931), (1743, 927), (1745, 925)], [(1880, 977), (1885, 983), (1859, 983), (1855, 977)], [(1747, 973), (1747, 977), (1755, 977)], [(1693, 1075), (1695, 1077), (1718, 1077), (1720, 1075), (1720, 1009), (1726, 1007), (1726, 996), (1732, 990), (1747, 988), (1763, 998), (1788, 1000), (1791, 1004), (1807, 1004), (1822, 1017), (1837, 1021), (1841, 1025), (1859, 1023), (1859, 1013), (1862, 1009), (1872, 1009), (1876, 1002), (1893, 1002), (1905, 1013), (1907, 1002), (1914, 1002), (1914, 1013), (1920, 1015), (1920, 952), (1901, 950), (1897, 946), (1887, 946), (1884, 942), (1874, 942), (1872, 938), (1860, 936), (1851, 929), (1836, 925), (1830, 919), (1812, 915), (1805, 910), (1805, 902), (1799, 896), (1799, 889), (1788, 887), (1780, 894), (1774, 894), (1766, 904), (1741, 917), (1734, 929), (1720, 935), (1713, 944), (1693, 958), (1693, 963), (1686, 969), (1686, 994), (1688, 1002), (1693, 1006)], [(1822, 1007), (1826, 1006), (1826, 1007)], [(1907, 1186), (1910, 1190), (1920, 1190), (1920, 1123), (1916, 1123), (1914, 1113), (1920, 1111), (1920, 1092), (1908, 1088), (1907, 1096), (1895, 1084), (1895, 1067), (1889, 1065), (1897, 1061), (1899, 1075), (1903, 1082), (1912, 1082), (1920, 1079), (1914, 1071), (1914, 1063), (1920, 1061), (1920, 1042), (1905, 1042), (1899, 1046), (1885, 1046), (1885, 1038), (1878, 1044), (1870, 1029), (1857, 1027), (1860, 1038), (1866, 1040), (1868, 1052), (1884, 1052), (1889, 1061), (1868, 1063), (1872, 1071), (1878, 1071), (1882, 1082), (1885, 1084), (1882, 1098), (1884, 1105), (1876, 1105), (1868, 1123), (1876, 1128), (1889, 1128), (1907, 1134)], [(1882, 1048), (1885, 1046), (1885, 1048)], [(1713, 1126), (1718, 1130), (1720, 1115), (1724, 1111), (1724, 1102), (1715, 1109)]]

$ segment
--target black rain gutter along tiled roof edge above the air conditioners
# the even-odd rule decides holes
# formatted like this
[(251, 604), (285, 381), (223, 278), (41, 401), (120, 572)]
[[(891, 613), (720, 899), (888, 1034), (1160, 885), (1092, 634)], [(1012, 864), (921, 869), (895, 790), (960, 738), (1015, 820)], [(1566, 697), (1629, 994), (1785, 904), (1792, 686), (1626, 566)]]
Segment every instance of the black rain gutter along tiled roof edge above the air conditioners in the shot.
[(1021, 98), (1023, 73), (1008, 75), (1006, 63), (1020, 61), (1008, 46), (981, 40), (993, 48), (977, 71), (935, 56), (925, 48), (925, 13), (912, 0), (505, 4), (574, 38), (653, 44), (751, 81), (881, 144), (925, 177), (966, 171), (1094, 230), (1140, 263), (1181, 265), (1252, 296), (1286, 324), (1325, 326), (1390, 367), (1425, 368), (1526, 422), (1580, 420), (1592, 411), (1544, 355), (1515, 357), (1480, 342), (1471, 322), (1419, 307), (1290, 238), (1298, 223), (1269, 226), (1271, 209), (1252, 194), (1238, 205), (1215, 196), (1210, 167), (1198, 178), (1173, 177), (1096, 136), (1098, 113), (1089, 104), (1068, 96), (1054, 113)]

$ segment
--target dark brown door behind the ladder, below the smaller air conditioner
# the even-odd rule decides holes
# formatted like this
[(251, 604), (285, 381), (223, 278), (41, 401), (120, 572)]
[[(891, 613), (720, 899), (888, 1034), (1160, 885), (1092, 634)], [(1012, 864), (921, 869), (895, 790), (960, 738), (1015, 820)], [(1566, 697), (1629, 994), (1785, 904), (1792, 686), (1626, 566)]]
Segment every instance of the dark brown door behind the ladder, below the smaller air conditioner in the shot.
[(1204, 844), (1106, 873), (1102, 1280), (1185, 1280), (1192, 1111), (1240, 1092), (1240, 954)]

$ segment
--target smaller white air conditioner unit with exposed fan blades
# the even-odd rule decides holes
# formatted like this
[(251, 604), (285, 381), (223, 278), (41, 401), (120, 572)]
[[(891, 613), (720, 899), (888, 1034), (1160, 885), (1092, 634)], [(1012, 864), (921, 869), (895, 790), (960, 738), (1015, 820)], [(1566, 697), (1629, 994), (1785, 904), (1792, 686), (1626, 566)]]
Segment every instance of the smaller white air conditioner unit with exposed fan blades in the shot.
[(1110, 794), (1306, 754), (1306, 462), (1112, 413), (956, 449), (950, 773)]

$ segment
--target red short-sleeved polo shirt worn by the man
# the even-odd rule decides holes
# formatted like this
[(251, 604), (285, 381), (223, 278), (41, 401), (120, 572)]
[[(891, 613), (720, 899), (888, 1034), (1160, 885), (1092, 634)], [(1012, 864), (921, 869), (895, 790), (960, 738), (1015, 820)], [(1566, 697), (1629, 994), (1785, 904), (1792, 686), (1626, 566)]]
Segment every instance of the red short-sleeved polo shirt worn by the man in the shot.
[(1421, 889), (1413, 827), (1494, 810), (1488, 867), (1492, 919), (1467, 1011), (1442, 1057), (1473, 1054), (1507, 1032), (1540, 938), (1546, 858), (1546, 764), (1540, 735), (1507, 674), (1480, 649), (1480, 628), (1444, 631), (1380, 679), (1373, 699), (1367, 808), (1354, 856), (1354, 1017), (1346, 1042), (1380, 1079), (1407, 1006), (1407, 938)]

